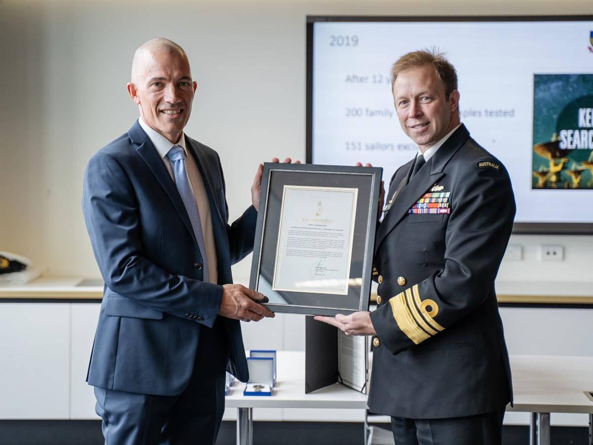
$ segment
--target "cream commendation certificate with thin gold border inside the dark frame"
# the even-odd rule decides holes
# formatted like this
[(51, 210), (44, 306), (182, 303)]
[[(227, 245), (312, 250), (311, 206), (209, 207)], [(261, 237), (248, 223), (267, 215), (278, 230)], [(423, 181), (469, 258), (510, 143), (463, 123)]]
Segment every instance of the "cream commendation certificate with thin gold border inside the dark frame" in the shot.
[(272, 289), (346, 295), (358, 189), (284, 186)]

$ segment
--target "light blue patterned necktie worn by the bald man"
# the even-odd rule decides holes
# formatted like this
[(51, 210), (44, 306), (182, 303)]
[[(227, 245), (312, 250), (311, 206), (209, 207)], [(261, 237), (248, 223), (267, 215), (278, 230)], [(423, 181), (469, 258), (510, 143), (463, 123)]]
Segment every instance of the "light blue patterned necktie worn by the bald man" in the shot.
[(196, 197), (193, 195), (192, 186), (189, 183), (189, 179), (187, 179), (183, 148), (180, 145), (173, 145), (171, 150), (167, 153), (167, 157), (173, 162), (177, 190), (181, 196), (181, 201), (183, 201), (183, 204), (185, 205), (187, 215), (189, 216), (190, 221), (192, 221), (197, 247), (200, 248), (200, 253), (202, 253), (204, 281), (209, 281), (208, 259), (206, 258), (206, 243), (204, 242), (204, 234), (202, 233), (202, 221), (200, 221), (200, 213), (197, 210)]

